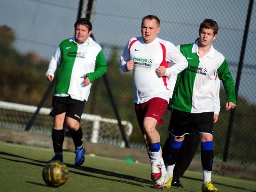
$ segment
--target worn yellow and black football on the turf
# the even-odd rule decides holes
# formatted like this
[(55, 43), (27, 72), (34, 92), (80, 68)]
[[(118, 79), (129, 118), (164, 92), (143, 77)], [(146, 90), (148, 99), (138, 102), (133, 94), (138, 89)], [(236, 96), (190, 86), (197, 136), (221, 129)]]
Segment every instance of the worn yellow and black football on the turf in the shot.
[(58, 187), (66, 183), (69, 178), (67, 166), (60, 161), (52, 161), (46, 164), (43, 169), (45, 183), (52, 187)]

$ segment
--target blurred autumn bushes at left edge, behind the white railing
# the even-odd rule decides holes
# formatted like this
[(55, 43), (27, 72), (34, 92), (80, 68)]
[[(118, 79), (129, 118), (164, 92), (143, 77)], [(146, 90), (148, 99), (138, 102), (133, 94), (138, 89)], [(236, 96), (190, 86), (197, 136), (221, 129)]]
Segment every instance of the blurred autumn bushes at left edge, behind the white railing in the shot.
[(12, 48), (15, 39), (14, 30), (0, 26), (0, 100), (37, 105), (47, 89), (48, 62), (34, 52), (17, 52)]

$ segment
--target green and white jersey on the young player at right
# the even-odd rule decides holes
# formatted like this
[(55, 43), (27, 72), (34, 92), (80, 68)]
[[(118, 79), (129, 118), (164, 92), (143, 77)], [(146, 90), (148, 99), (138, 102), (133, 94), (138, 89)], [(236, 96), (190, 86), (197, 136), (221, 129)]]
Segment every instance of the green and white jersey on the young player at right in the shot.
[(179, 46), (188, 67), (178, 74), (171, 107), (191, 113), (215, 111), (220, 81), (227, 95), (226, 102), (236, 103), (234, 82), (225, 57), (211, 45), (210, 51), (200, 58), (197, 44), (198, 41)]

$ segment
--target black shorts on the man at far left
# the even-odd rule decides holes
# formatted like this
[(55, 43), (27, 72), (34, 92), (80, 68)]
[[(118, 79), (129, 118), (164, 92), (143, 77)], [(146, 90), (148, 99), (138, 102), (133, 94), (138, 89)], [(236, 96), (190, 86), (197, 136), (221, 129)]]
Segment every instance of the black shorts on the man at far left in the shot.
[(70, 96), (54, 96), (49, 115), (55, 116), (66, 112), (66, 116), (76, 119), (78, 122), (85, 110), (85, 101), (72, 99)]

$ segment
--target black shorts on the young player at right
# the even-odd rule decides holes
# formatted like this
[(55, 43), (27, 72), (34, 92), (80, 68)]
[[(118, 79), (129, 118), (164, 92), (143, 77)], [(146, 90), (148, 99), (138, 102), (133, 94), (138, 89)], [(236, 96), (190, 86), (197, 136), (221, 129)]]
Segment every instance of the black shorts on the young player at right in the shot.
[(189, 113), (172, 109), (169, 124), (169, 134), (174, 137), (182, 137), (190, 134), (193, 127), (198, 133), (213, 134), (214, 112)]

